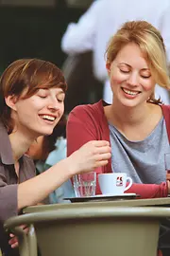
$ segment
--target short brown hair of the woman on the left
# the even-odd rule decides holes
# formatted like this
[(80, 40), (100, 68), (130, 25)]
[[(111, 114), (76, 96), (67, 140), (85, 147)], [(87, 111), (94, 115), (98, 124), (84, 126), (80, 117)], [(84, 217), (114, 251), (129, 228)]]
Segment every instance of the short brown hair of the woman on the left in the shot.
[[(0, 119), (11, 132), (13, 125), (11, 109), (5, 98), (11, 95), (18, 99), (33, 96), (40, 88), (59, 87), (65, 93), (67, 84), (59, 67), (39, 59), (21, 59), (9, 64), (0, 78)], [(23, 97), (23, 92), (26, 94)]]

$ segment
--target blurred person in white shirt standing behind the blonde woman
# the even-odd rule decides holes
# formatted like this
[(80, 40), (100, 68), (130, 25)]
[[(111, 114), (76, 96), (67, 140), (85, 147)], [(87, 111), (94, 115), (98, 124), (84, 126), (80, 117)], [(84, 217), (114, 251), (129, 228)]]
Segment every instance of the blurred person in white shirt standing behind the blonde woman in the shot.
[[(77, 23), (70, 23), (61, 40), (61, 49), (68, 55), (93, 51), (94, 77), (105, 83), (103, 99), (110, 103), (112, 92), (105, 67), (105, 51), (110, 36), (124, 22), (145, 20), (161, 31), (166, 46), (167, 61), (170, 63), (170, 1), (169, 0), (97, 0), (80, 17)], [(77, 72), (80, 72), (78, 70)], [(81, 87), (81, 84), (79, 84)], [(81, 87), (82, 88), (82, 87)], [(96, 91), (98, 88), (96, 88)], [(158, 84), (156, 98), (169, 104), (169, 92)]]

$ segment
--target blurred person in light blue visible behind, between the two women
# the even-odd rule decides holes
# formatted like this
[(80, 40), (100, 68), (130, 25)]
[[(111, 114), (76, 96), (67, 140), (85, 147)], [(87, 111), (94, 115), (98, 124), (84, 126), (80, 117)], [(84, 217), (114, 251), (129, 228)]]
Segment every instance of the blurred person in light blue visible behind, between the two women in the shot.
[[(27, 151), (27, 155), (33, 158), (36, 166), (36, 174), (48, 170), (60, 160), (66, 158), (66, 117), (59, 120), (58, 126), (49, 136), (41, 136), (32, 143)], [(74, 197), (75, 192), (70, 179), (64, 182), (56, 191), (49, 194), (49, 198), (44, 203), (56, 204), (69, 202), (65, 197)]]

